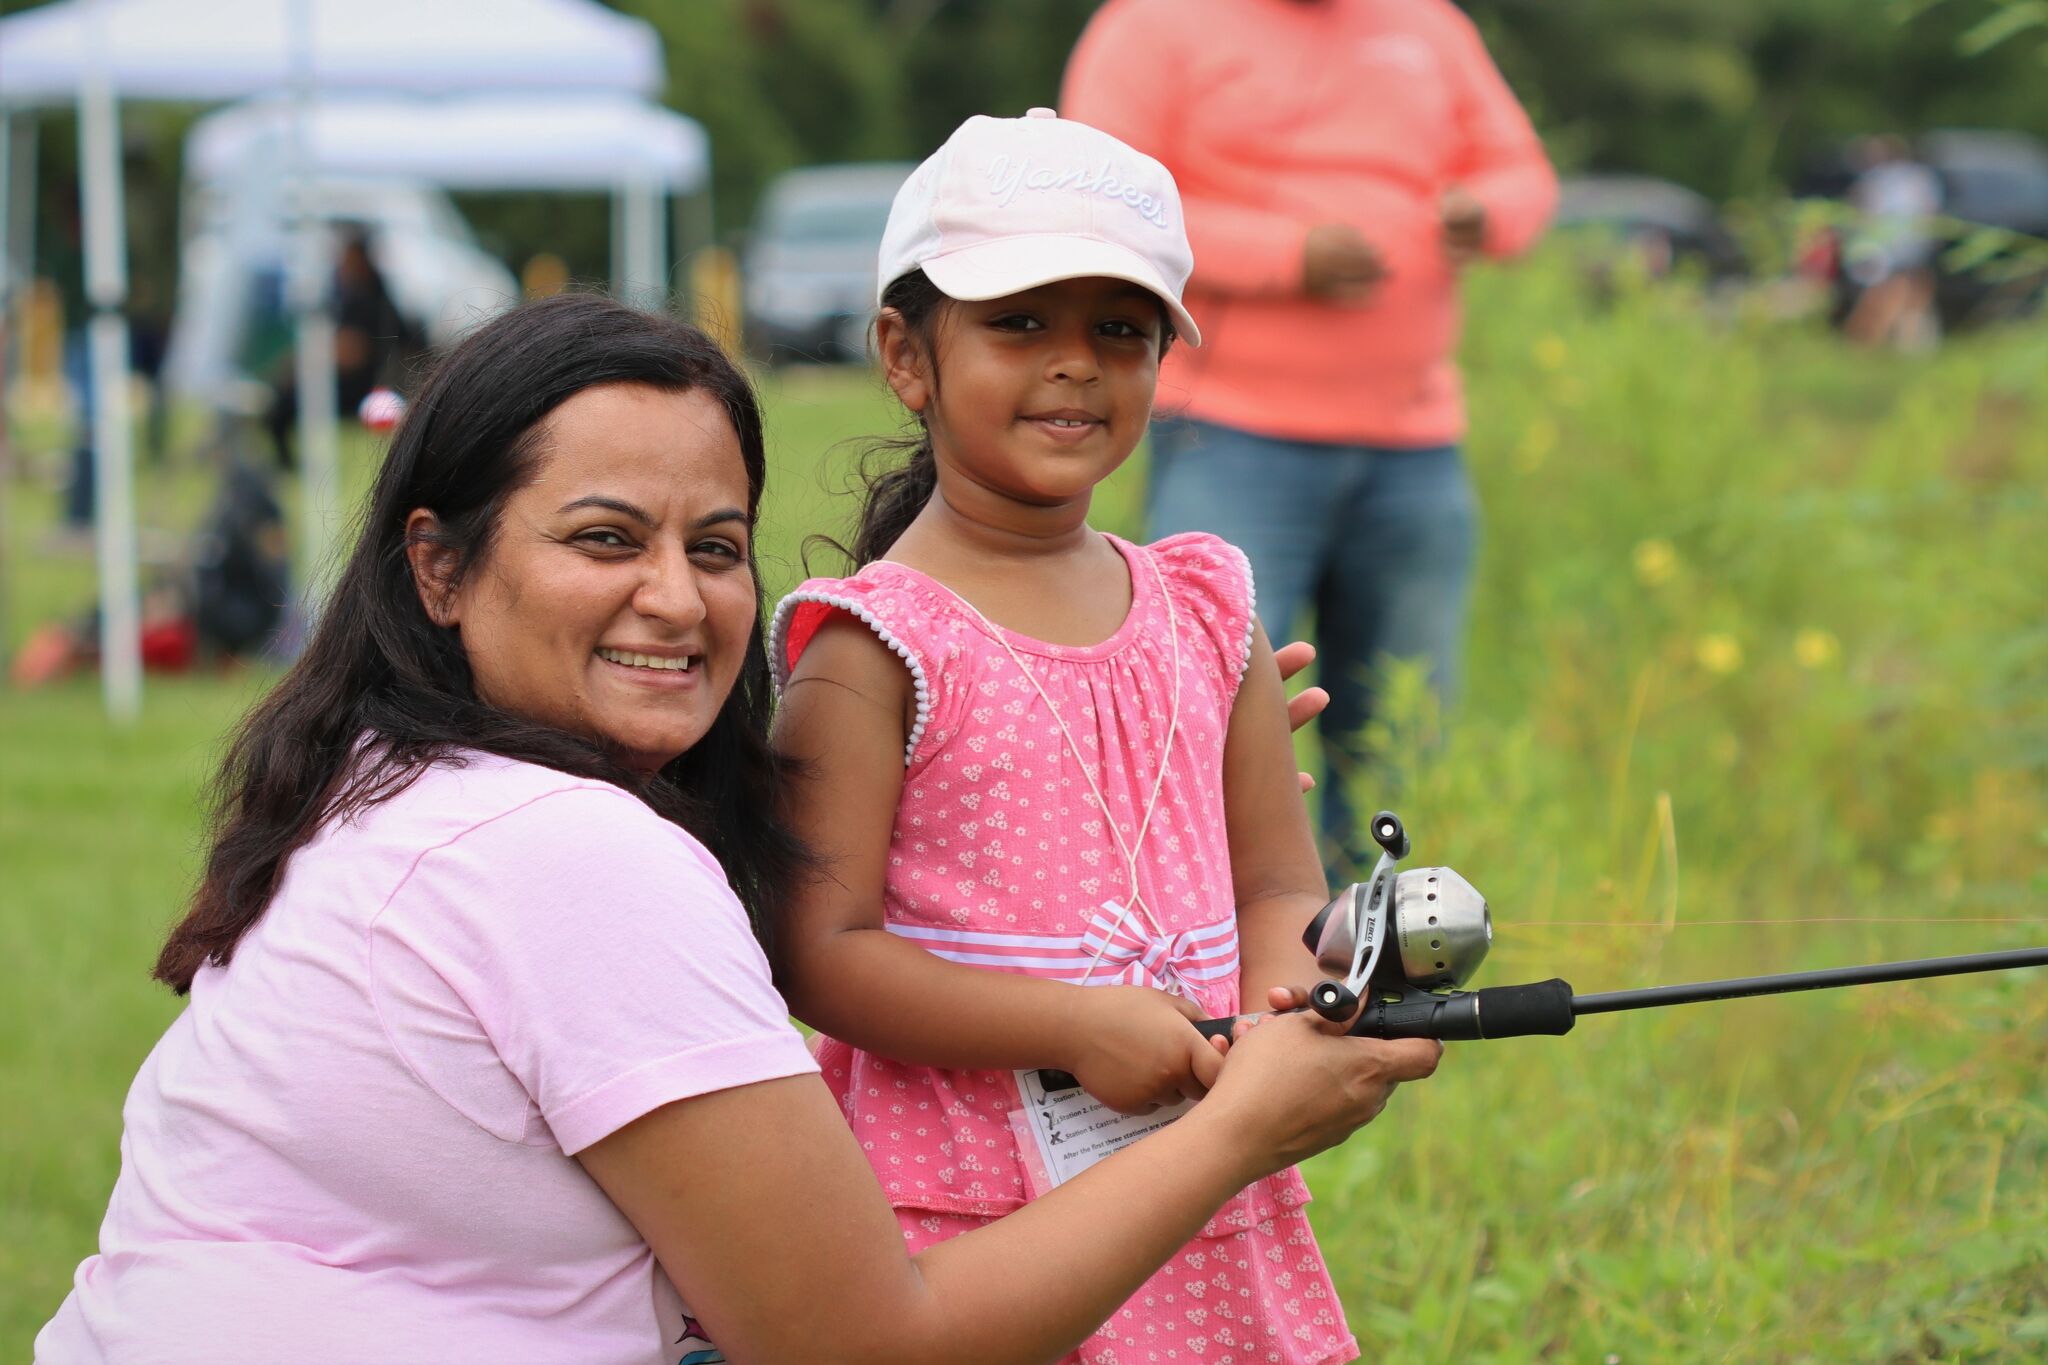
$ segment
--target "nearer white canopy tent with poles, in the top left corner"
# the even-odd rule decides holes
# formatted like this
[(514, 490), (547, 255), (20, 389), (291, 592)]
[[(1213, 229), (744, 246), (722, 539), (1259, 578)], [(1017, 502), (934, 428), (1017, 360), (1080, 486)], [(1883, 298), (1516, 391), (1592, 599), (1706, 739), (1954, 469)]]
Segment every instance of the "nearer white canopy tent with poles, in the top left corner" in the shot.
[[(141, 704), (135, 518), (127, 422), (127, 272), (119, 100), (225, 102), (291, 92), (614, 92), (662, 86), (649, 25), (594, 0), (57, 0), (0, 20), (0, 125), (76, 102), (86, 289), (92, 303), (94, 491), (100, 667), (106, 706)], [(299, 145), (305, 139), (299, 123)], [(6, 139), (8, 127), (0, 127)], [(301, 162), (303, 164), (303, 162)], [(303, 178), (303, 176), (301, 176)], [(0, 196), (10, 186), (0, 180)], [(0, 203), (0, 231), (8, 211)], [(309, 593), (340, 520), (332, 389), (334, 325), (311, 258), (295, 276), (299, 422)], [(0, 241), (0, 262), (10, 260)], [(0, 287), (14, 272), (0, 270)], [(0, 299), (4, 305), (4, 299)], [(326, 395), (330, 401), (322, 403)]]

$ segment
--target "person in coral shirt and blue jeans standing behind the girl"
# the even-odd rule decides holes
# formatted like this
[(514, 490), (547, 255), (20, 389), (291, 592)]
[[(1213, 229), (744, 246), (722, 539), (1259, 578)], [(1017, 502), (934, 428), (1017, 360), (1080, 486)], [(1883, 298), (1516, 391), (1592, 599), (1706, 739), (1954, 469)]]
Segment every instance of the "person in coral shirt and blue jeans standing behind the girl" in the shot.
[(1276, 639), (1315, 606), (1341, 874), (1372, 667), (1421, 657), (1440, 696), (1458, 673), (1477, 548), (1458, 268), (1534, 244), (1556, 176), (1448, 0), (1110, 0), (1061, 115), (1180, 184), (1208, 344), (1163, 362), (1161, 409), (1184, 415), (1153, 424), (1149, 530), (1241, 546)]

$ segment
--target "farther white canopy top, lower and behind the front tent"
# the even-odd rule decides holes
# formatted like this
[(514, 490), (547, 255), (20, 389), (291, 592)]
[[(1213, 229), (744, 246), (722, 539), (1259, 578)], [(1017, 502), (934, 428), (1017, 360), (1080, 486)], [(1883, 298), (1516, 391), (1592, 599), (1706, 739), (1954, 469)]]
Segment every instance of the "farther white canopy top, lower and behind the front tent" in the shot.
[(705, 129), (631, 96), (332, 96), (305, 113), (303, 147), (297, 115), (289, 100), (207, 115), (186, 137), (184, 174), (225, 182), (303, 153), (317, 180), (610, 192), (612, 284), (641, 305), (668, 278), (664, 199), (700, 194), (711, 178)]

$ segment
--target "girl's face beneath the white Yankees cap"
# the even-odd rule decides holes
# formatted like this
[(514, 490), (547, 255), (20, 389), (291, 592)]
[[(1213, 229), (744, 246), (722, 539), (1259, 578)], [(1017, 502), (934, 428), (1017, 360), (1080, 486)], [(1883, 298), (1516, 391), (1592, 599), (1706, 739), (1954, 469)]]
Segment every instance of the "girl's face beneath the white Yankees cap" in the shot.
[(1051, 508), (1130, 458), (1159, 385), (1159, 301), (1108, 278), (940, 309), (932, 356), (883, 336), (889, 385), (924, 413), (938, 475)]

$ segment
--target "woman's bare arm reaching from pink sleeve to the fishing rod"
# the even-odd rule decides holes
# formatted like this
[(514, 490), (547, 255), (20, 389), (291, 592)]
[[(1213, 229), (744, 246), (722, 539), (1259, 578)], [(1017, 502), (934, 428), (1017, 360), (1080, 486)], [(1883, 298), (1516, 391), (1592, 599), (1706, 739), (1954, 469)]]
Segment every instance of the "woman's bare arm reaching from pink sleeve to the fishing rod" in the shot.
[(1272, 1019), (1186, 1117), (920, 1257), (815, 1076), (666, 1105), (580, 1158), (737, 1365), (1044, 1363), (1227, 1197), (1341, 1142), (1440, 1054)]

